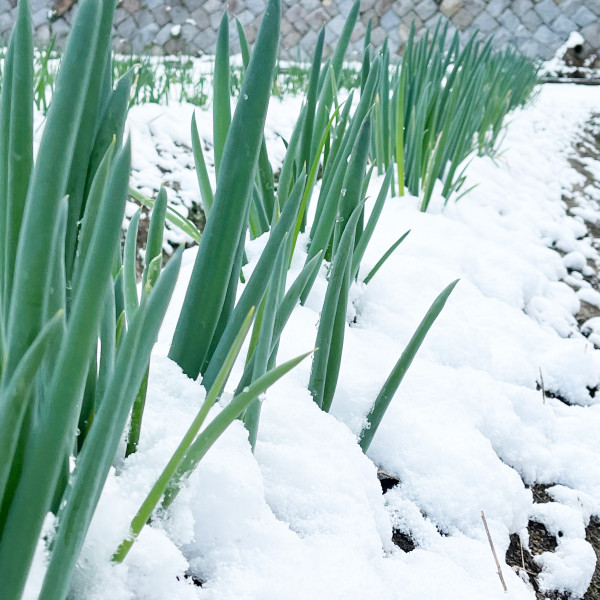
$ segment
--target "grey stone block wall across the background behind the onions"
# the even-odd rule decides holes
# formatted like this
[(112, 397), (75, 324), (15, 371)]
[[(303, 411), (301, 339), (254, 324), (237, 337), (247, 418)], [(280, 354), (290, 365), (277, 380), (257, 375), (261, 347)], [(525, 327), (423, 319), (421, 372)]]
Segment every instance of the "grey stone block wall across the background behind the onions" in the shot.
[[(59, 45), (77, 11), (73, 0), (30, 0), (40, 43), (55, 36)], [(352, 0), (284, 0), (282, 57), (310, 56), (317, 32), (327, 23), (327, 51), (335, 45)], [(16, 0), (0, 0), (0, 38), (6, 40), (15, 20)], [(224, 10), (237, 15), (252, 42), (265, 0), (120, 0), (114, 24), (115, 49), (129, 53), (212, 53)], [(360, 59), (367, 21), (373, 19), (373, 44), (388, 35), (392, 51), (406, 40), (410, 24), (432, 28), (441, 18), (465, 38), (478, 30), (493, 34), (534, 58), (549, 58), (572, 31), (586, 40), (588, 52), (600, 48), (600, 0), (362, 0), (360, 21), (352, 36), (350, 58)], [(236, 35), (232, 22), (232, 46)]]

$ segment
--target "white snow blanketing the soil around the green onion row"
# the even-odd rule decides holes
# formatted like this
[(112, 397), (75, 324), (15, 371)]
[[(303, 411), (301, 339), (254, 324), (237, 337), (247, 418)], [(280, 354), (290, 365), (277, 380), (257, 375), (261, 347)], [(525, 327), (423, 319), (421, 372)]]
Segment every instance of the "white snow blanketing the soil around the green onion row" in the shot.
[[(274, 163), (283, 149), (275, 134), (289, 136), (299, 107), (293, 99), (272, 103)], [(139, 451), (109, 476), (73, 598), (531, 600), (527, 578), (504, 562), (509, 534), (527, 545), (530, 519), (558, 539), (555, 553), (537, 558), (541, 585), (581, 597), (596, 560), (585, 527), (600, 515), (600, 404), (590, 394), (600, 387), (600, 352), (574, 315), (581, 299), (600, 306), (600, 294), (578, 275), (597, 254), (561, 195), (581, 183), (567, 157), (598, 107), (600, 88), (544, 86), (533, 106), (513, 115), (500, 157), (473, 160), (468, 185), (477, 187), (458, 203), (444, 207), (438, 190), (423, 214), (417, 198), (389, 198), (362, 274), (412, 231), (368, 286), (354, 285), (332, 413), (311, 400), (305, 361), (267, 393), (256, 454), (234, 423), (172, 510), (114, 567), (110, 556), (204, 396), (166, 358), (195, 258), (188, 250), (154, 352)], [(133, 185), (150, 192), (172, 179), (183, 204), (199, 201), (192, 110), (132, 110)], [(210, 114), (196, 114), (210, 141)], [(600, 172), (600, 164), (590, 166)], [(371, 182), (372, 198), (380, 184)], [(586, 216), (600, 219), (589, 209)], [(251, 243), (248, 272), (264, 243)], [(299, 244), (288, 281), (304, 257)], [(356, 436), (371, 403), (435, 296), (456, 278), (364, 456)], [(563, 281), (569, 278), (579, 281), (579, 292)], [(287, 326), (280, 361), (314, 346), (325, 286), (323, 269)], [(545, 390), (571, 405), (543, 397), (540, 373)], [(377, 467), (400, 480), (385, 495)], [(533, 483), (552, 484), (554, 501), (534, 504)], [(393, 529), (417, 548), (397, 548)], [(42, 563), (38, 556), (30, 598)]]

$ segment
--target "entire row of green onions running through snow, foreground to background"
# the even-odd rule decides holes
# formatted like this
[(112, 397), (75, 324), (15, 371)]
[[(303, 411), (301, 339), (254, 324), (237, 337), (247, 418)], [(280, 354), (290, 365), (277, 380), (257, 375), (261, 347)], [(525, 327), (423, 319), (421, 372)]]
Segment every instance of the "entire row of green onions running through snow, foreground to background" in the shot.
[[(354, 92), (341, 102), (338, 90), (359, 15), (357, 0), (326, 61), (325, 30), (318, 36), (306, 100), (276, 178), (264, 125), (276, 70), (281, 0), (268, 0), (253, 48), (237, 23), (243, 80), (234, 112), (225, 15), (212, 86), (215, 189), (196, 123), (191, 123), (206, 227), (200, 236), (167, 206), (164, 190), (155, 200), (134, 193), (153, 206), (140, 291), (136, 280), (139, 214), (130, 223), (123, 247), (120, 239), (125, 201), (131, 192), (131, 150), (129, 142), (123, 142), (123, 130), (133, 73), (127, 71), (113, 85), (110, 31), (114, 4), (80, 3), (35, 162), (33, 44), (27, 0), (20, 0), (18, 13), (0, 103), (0, 235), (5, 240), (0, 247), (0, 453), (6, 457), (0, 465), (0, 581), (3, 598), (21, 597), (44, 520), (52, 512), (56, 530), (40, 598), (64, 600), (119, 442), (125, 436), (126, 452), (132, 454), (144, 435), (150, 354), (181, 260), (178, 251), (162, 266), (165, 219), (188, 228), (199, 241), (169, 356), (189, 377), (201, 380), (206, 395), (179, 447), (173, 456), (165, 457), (162, 474), (115, 548), (114, 562), (125, 559), (154, 510), (169, 507), (233, 420), (243, 419), (254, 448), (259, 438), (259, 397), (312, 353), (277, 365), (285, 325), (297, 304), (306, 301), (324, 263), (328, 265), (327, 292), (307, 386), (317, 405), (330, 410), (343, 359), (349, 289), (360, 279), (362, 259), (393, 187), (391, 161), (396, 156), (402, 158), (399, 164), (412, 164), (405, 146), (409, 139), (418, 139), (416, 131), (422, 131), (415, 120), (405, 123), (406, 111), (422, 120), (425, 117), (414, 106), (427, 104), (430, 109), (425, 119), (430, 122), (425, 129), (428, 141), (417, 152), (421, 164), (432, 162), (424, 148), (435, 156), (448, 151), (439, 142), (440, 135), (450, 136), (448, 131), (442, 128), (436, 134), (431, 129), (431, 124), (448, 123), (448, 113), (440, 108), (446, 105), (440, 99), (423, 100), (413, 77), (414, 71), (429, 64), (430, 59), (422, 54), (443, 56), (448, 81), (467, 80), (472, 63), (483, 61), (484, 66), (473, 69), (490, 70), (498, 77), (503, 67), (501, 62), (494, 67), (487, 61), (490, 53), (485, 49), (459, 53), (453, 43), (449, 54), (442, 55), (445, 33), (436, 32), (430, 45), (415, 45), (409, 51), (407, 66), (396, 77), (398, 85), (393, 79), (388, 87), (387, 50), (373, 60), (366, 53), (360, 98), (353, 108)], [(507, 77), (508, 83), (496, 88), (497, 95), (503, 94), (503, 85), (511, 85), (510, 74)], [(432, 87), (425, 85), (425, 89)], [(443, 97), (452, 89), (454, 85), (448, 83), (435, 93)], [(425, 97), (429, 99), (430, 94), (425, 92)], [(399, 121), (393, 122), (393, 108), (388, 106), (383, 112), (383, 97), (391, 98), (392, 107), (407, 107), (400, 111), (402, 127), (398, 128)], [(449, 104), (459, 110), (465, 97), (457, 98), (452, 96)], [(487, 118), (491, 130), (498, 123), (495, 116), (490, 113)], [(387, 122), (389, 127), (382, 128)], [(482, 147), (489, 144), (490, 128), (485, 130)], [(391, 145), (398, 136), (390, 132), (398, 130), (406, 140), (396, 145), (401, 157)], [(382, 142), (389, 149), (386, 160), (390, 164), (384, 164), (378, 154)], [(385, 177), (367, 218), (366, 190), (374, 158), (385, 169)], [(318, 177), (321, 185), (316, 193)], [(309, 222), (311, 201), (316, 203), (315, 217)], [(308, 237), (307, 258), (295, 280), (288, 282), (300, 232)], [(264, 250), (244, 281), (246, 241), (261, 235), (268, 238)], [(362, 278), (365, 284), (406, 235)], [(434, 301), (387, 381), (382, 382), (359, 435), (363, 450), (367, 451), (455, 285), (450, 283)], [(232, 399), (206, 424), (250, 332), (244, 372)]]

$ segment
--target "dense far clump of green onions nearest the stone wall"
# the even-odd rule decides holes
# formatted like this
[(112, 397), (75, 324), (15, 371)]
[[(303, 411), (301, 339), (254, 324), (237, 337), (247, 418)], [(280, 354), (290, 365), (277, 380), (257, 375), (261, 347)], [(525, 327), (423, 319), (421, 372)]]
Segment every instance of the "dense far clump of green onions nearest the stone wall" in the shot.
[[(367, 44), (363, 79), (370, 52)], [(496, 153), (507, 115), (532, 98), (538, 66), (511, 48), (494, 51), (477, 33), (461, 48), (458, 32), (450, 37), (441, 21), (419, 41), (413, 24), (396, 67), (387, 40), (380, 55), (388, 76), (379, 84), (371, 156), (380, 173), (395, 162), (398, 193), (421, 194), (427, 210), (437, 180), (447, 201), (464, 187), (473, 152)]]

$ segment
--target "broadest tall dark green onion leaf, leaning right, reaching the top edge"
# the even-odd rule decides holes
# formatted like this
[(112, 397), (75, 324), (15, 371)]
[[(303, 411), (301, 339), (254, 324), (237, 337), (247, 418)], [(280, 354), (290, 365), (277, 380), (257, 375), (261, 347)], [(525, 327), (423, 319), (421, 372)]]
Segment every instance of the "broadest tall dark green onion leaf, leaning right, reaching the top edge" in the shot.
[(281, 0), (270, 0), (225, 143), (211, 218), (173, 336), (169, 355), (194, 378), (206, 360), (245, 229), (245, 207), (250, 202), (263, 137), (280, 17)]

